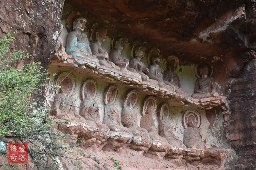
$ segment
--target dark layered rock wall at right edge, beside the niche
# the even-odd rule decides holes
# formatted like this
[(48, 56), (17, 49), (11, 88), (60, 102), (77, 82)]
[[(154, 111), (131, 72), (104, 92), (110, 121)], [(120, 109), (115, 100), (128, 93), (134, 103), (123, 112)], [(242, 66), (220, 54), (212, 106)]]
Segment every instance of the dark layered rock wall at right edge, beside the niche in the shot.
[(237, 165), (237, 169), (249, 168), (250, 164), (256, 164), (256, 59), (253, 59), (252, 53), (252, 60), (247, 62), (243, 73), (230, 80), (231, 114), (227, 139), (240, 156), (238, 164), (245, 165)]

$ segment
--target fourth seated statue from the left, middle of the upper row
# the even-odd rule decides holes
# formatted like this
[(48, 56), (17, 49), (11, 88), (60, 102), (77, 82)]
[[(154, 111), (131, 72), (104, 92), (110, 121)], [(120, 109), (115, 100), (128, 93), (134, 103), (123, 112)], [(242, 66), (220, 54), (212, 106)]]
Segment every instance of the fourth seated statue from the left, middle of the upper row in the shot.
[(143, 81), (148, 81), (148, 73), (149, 69), (145, 67), (145, 64), (141, 61), (145, 57), (145, 51), (146, 49), (143, 46), (137, 46), (135, 48), (135, 57), (130, 60), (129, 62), (129, 68), (127, 68), (130, 71), (137, 71), (140, 73), (141, 78)]

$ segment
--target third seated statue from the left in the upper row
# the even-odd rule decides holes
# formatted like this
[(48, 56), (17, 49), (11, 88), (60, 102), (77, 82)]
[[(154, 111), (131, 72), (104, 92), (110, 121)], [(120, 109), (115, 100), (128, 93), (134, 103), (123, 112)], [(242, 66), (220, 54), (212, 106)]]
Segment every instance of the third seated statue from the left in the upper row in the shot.
[(126, 68), (129, 60), (122, 54), (127, 45), (127, 38), (119, 38), (116, 41), (115, 48), (109, 53), (109, 60), (120, 68)]

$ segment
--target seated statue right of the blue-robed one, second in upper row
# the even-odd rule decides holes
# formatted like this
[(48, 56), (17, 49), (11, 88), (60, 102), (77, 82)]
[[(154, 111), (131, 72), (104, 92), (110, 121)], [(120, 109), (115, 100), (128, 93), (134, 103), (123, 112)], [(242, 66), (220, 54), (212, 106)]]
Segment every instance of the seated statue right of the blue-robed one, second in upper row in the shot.
[(116, 70), (120, 70), (120, 68), (117, 65), (109, 61), (108, 52), (101, 45), (105, 41), (106, 35), (107, 35), (107, 30), (104, 27), (99, 27), (96, 29), (96, 32), (95, 32), (96, 40), (90, 45), (92, 54), (97, 56), (97, 58), (99, 59), (100, 65), (105, 65), (107, 67), (113, 67)]

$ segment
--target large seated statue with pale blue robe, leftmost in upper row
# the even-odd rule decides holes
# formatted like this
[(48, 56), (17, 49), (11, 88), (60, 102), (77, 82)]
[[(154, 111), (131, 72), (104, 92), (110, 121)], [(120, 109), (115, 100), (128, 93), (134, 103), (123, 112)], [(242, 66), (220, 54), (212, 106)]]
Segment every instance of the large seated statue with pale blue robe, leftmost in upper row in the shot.
[(98, 59), (92, 55), (87, 35), (84, 33), (86, 19), (78, 17), (73, 22), (73, 31), (69, 32), (66, 42), (66, 53), (72, 56), (89, 57), (95, 61)]

